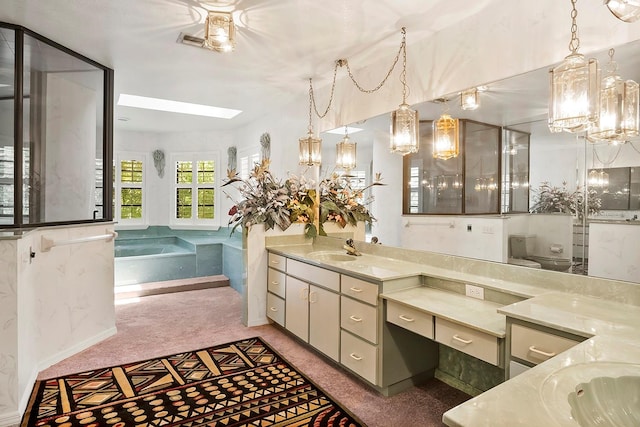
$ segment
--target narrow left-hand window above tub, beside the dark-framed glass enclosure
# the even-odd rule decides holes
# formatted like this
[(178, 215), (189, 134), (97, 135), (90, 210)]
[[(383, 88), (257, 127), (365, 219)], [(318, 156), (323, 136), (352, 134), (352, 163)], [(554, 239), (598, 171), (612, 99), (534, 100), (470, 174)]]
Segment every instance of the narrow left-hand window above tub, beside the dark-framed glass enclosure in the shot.
[(144, 154), (123, 153), (116, 163), (116, 217), (122, 224), (145, 224)]

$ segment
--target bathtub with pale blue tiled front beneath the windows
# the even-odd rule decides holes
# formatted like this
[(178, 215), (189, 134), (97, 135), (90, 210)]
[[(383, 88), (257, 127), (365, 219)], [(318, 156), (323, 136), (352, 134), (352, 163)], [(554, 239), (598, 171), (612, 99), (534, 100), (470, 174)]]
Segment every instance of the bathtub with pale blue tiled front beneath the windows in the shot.
[(197, 277), (196, 245), (179, 237), (116, 239), (115, 286)]

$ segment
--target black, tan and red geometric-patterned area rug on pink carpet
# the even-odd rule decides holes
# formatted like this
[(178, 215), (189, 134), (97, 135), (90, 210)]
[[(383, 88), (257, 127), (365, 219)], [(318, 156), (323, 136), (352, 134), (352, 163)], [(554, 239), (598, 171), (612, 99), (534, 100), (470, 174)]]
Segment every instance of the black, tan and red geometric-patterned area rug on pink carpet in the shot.
[(260, 338), (36, 382), (26, 426), (364, 426)]

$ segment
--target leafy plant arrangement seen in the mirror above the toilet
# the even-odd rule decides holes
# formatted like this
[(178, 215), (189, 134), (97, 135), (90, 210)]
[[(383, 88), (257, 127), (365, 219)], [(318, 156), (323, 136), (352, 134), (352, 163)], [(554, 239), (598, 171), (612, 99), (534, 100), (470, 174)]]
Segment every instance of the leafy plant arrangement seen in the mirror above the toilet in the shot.
[[(587, 215), (595, 215), (600, 212), (602, 200), (595, 190), (587, 190), (588, 212)], [(532, 213), (564, 212), (582, 219), (584, 215), (585, 194), (580, 188), (573, 192), (567, 189), (567, 183), (563, 182), (562, 187), (551, 186), (548, 182), (543, 182), (538, 190), (536, 201), (531, 208)]]

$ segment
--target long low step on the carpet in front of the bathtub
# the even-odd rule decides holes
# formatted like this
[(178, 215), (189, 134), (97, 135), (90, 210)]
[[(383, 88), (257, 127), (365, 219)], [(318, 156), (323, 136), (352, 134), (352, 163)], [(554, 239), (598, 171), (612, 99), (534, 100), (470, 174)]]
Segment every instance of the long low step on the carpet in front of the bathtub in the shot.
[(115, 299), (139, 298), (148, 295), (169, 294), (173, 292), (194, 291), (199, 289), (229, 286), (229, 278), (217, 276), (191, 277), (188, 279), (165, 280), (162, 282), (120, 285), (114, 288)]

